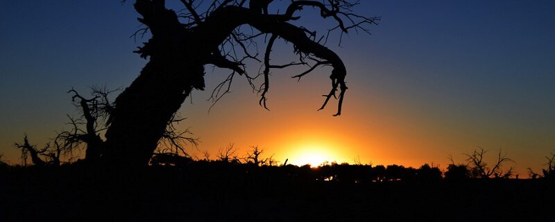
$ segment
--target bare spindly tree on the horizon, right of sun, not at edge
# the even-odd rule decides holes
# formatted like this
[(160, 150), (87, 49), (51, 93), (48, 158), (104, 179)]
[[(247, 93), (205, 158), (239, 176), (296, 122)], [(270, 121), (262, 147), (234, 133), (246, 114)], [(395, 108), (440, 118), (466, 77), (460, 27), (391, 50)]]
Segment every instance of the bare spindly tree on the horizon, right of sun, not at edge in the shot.
[(506, 157), (506, 154), (502, 155), (501, 150), (497, 154), (497, 161), (493, 164), (493, 167), (488, 167), (488, 164), (484, 162), (484, 155), (488, 151), (484, 148), (479, 147), (478, 150), (474, 150), (471, 154), (465, 153), (468, 161), (468, 166), (470, 167), (470, 175), (475, 178), (509, 178), (513, 175), (513, 168), (502, 169), (502, 166), (506, 162), (512, 162), (513, 160)]

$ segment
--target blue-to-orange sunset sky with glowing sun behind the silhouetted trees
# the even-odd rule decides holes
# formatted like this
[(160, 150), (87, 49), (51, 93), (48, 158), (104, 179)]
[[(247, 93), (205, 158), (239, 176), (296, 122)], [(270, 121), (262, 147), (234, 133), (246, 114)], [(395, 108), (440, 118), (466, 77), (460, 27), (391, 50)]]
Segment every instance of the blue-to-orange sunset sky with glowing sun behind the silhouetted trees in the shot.
[[(169, 6), (179, 6), (168, 0)], [(275, 1), (271, 12), (287, 1)], [(182, 105), (178, 127), (200, 139), (191, 155), (215, 157), (234, 144), (264, 148), (275, 160), (439, 164), (478, 147), (499, 150), (521, 175), (538, 171), (555, 152), (554, 1), (362, 1), (356, 12), (382, 17), (372, 35), (333, 37), (327, 46), (345, 62), (348, 91), (340, 117), (336, 101), (318, 110), (329, 91), (330, 69), (298, 83), (302, 69), (273, 71), (268, 108), (246, 80), (210, 110), (212, 89), (227, 74), (206, 67), (207, 90)], [(325, 31), (330, 19), (307, 8), (303, 26)], [(146, 38), (130, 2), (0, 2), (0, 154), (19, 163), (14, 142), (24, 134), (42, 146), (76, 115), (74, 87), (125, 88), (147, 60), (132, 53)], [(275, 61), (291, 62), (291, 44)], [(262, 48), (263, 49), (263, 48)], [(250, 67), (257, 70), (259, 65)], [(212, 71), (214, 70), (214, 71)]]

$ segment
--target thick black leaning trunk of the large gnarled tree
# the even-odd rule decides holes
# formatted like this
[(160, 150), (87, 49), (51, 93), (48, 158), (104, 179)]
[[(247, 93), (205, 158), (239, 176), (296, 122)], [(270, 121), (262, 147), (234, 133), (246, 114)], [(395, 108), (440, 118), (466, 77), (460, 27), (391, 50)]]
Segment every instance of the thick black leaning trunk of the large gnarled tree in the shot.
[(135, 9), (152, 33), (139, 48), (150, 61), (116, 99), (101, 160), (118, 168), (148, 164), (169, 121), (193, 88), (204, 88), (204, 67), (194, 41), (164, 1), (137, 1)]

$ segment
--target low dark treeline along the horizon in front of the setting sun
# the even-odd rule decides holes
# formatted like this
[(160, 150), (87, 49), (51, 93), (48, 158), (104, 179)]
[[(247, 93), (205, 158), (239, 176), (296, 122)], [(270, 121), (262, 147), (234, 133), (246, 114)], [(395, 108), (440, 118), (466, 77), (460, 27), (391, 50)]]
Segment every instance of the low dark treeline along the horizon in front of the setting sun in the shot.
[[(257, 146), (246, 152), (244, 157), (237, 155), (237, 150), (230, 146), (221, 149), (216, 155), (216, 159), (210, 159), (205, 153), (205, 158), (184, 157), (172, 153), (157, 153), (151, 160), (152, 167), (177, 168), (177, 169), (196, 169), (198, 171), (225, 171), (236, 175), (260, 173), (273, 175), (276, 177), (287, 176), (289, 178), (302, 178), (303, 180), (331, 181), (331, 182), (388, 182), (388, 181), (438, 181), (438, 180), (466, 180), (470, 178), (518, 178), (511, 167), (504, 168), (506, 162), (511, 161), (499, 152), (497, 162), (489, 164), (484, 162), (484, 155), (487, 153), (483, 148), (475, 150), (471, 154), (466, 154), (466, 163), (451, 164), (443, 171), (434, 164), (423, 164), (419, 168), (404, 167), (398, 164), (376, 165), (372, 164), (348, 164), (337, 162), (323, 162), (320, 166), (296, 166), (279, 164), (270, 157), (262, 157), (264, 150)], [(535, 173), (529, 169), (529, 178), (547, 178), (552, 180), (555, 175), (555, 155), (546, 157), (547, 168), (542, 173)], [(194, 160), (196, 159), (196, 160)]]

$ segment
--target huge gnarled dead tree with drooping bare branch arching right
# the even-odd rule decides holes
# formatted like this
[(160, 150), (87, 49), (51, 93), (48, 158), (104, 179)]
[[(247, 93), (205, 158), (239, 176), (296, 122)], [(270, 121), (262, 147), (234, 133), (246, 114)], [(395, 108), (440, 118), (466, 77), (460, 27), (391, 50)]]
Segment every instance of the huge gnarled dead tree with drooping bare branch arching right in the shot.
[[(135, 10), (142, 16), (138, 20), (145, 26), (136, 34), (151, 33), (151, 39), (135, 52), (149, 61), (133, 83), (115, 99), (105, 123), (105, 141), (98, 152), (94, 151), (94, 156), (87, 151), (87, 162), (119, 168), (145, 166), (183, 101), (192, 90), (205, 88), (205, 65), (231, 71), (214, 89), (215, 101), (229, 92), (232, 79), (238, 74), (245, 76), (257, 89), (261, 96), (259, 103), (264, 108), (271, 69), (307, 65), (307, 71), (293, 76), (300, 79), (317, 67), (331, 66), (332, 88), (320, 109), (325, 108), (332, 97), (337, 98), (338, 109), (334, 114), (337, 116), (341, 114), (347, 89), (347, 71), (341, 58), (324, 46), (327, 35), (332, 31), (339, 31), (341, 35), (349, 31), (368, 33), (367, 26), (379, 20), (356, 15), (352, 8), (358, 3), (346, 0), (291, 1), (282, 13), (276, 14), (265, 12), (267, 4), (262, 10), (246, 8), (246, 0), (214, 0), (208, 4), (194, 0), (180, 2), (185, 10), (178, 14), (168, 9), (164, 0), (135, 1)], [(203, 6), (205, 10), (201, 11)], [(335, 25), (327, 35), (318, 38), (315, 31), (289, 23), (300, 19), (297, 12), (308, 7), (319, 10), (321, 17), (334, 20)], [(246, 28), (250, 28), (250, 33)], [(263, 37), (267, 45), (263, 60), (260, 60), (257, 51), (253, 53), (250, 46)], [(271, 51), (278, 39), (293, 44), (298, 62), (271, 64)], [(249, 75), (245, 69), (248, 60), (262, 62), (262, 73)], [(264, 83), (255, 87), (253, 80), (259, 76), (264, 78)]]

